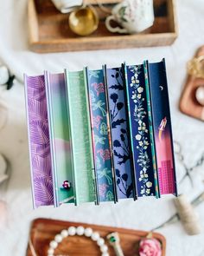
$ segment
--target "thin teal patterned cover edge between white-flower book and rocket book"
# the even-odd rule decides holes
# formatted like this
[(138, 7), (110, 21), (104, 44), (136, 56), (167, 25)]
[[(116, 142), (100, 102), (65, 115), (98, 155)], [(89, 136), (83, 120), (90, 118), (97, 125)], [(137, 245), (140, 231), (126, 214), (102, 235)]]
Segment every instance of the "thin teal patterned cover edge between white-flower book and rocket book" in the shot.
[(153, 128), (153, 124), (152, 124), (153, 121), (152, 121), (152, 109), (151, 109), (151, 103), (150, 103), (150, 84), (149, 84), (147, 62), (143, 62), (143, 67), (144, 67), (145, 90), (146, 90), (146, 99), (147, 99), (147, 108), (148, 108), (148, 117), (149, 117), (150, 144), (151, 144), (153, 172), (154, 172), (154, 179), (155, 179), (155, 191), (156, 191), (156, 198), (160, 198), (157, 163), (156, 163), (154, 128)]

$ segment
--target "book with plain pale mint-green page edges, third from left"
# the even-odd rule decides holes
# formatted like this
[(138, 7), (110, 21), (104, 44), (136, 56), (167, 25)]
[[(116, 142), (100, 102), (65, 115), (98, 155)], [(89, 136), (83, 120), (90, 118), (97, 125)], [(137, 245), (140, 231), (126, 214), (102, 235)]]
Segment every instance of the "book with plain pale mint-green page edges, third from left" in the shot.
[(65, 70), (70, 116), (75, 204), (97, 201), (86, 71)]

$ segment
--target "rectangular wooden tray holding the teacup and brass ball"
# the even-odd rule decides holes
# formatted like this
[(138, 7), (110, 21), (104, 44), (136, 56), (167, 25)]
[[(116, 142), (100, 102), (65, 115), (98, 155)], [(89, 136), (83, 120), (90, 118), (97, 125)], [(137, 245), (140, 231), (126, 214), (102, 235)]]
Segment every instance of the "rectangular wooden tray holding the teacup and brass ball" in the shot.
[[(86, 0), (87, 1), (87, 0)], [(89, 0), (92, 1), (92, 0)], [(95, 0), (94, 0), (95, 1)], [(115, 0), (103, 0), (112, 7)], [(154, 0), (155, 23), (142, 34), (113, 34), (105, 28), (105, 14), (99, 10), (99, 28), (91, 36), (76, 36), (68, 27), (68, 14), (61, 14), (50, 0), (29, 0), (29, 43), (35, 52), (91, 49), (122, 49), (169, 45), (177, 37), (175, 0)]]

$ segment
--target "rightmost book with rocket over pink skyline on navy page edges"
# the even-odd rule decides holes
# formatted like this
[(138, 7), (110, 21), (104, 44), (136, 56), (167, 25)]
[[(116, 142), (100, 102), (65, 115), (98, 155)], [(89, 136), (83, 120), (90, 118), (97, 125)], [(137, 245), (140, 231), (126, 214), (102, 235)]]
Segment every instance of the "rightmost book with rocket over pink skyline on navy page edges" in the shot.
[(169, 94), (164, 60), (147, 62), (160, 194), (177, 195)]

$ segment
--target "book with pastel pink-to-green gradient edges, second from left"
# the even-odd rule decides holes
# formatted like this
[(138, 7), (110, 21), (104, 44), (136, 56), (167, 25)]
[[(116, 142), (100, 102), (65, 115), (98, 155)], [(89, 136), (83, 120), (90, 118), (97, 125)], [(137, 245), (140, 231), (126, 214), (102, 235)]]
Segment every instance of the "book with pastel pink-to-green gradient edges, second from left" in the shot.
[(54, 177), (54, 206), (71, 203), (73, 169), (68, 127), (65, 75), (45, 72), (50, 131), (50, 152)]

